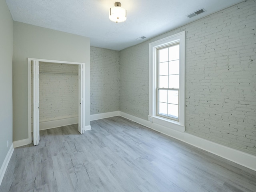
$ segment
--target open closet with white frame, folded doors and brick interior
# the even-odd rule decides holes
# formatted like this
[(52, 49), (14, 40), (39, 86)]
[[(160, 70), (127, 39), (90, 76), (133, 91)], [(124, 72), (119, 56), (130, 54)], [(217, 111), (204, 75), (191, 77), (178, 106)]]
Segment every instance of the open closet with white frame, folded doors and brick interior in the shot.
[(28, 58), (28, 135), (34, 145), (40, 130), (72, 124), (78, 124), (81, 134), (90, 130), (84, 69), (84, 63)]

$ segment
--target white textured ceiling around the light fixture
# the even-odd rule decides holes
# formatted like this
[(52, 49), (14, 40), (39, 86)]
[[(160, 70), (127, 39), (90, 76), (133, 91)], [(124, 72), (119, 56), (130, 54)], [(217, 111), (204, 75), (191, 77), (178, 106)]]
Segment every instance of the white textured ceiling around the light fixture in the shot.
[[(14, 21), (78, 34), (91, 46), (122, 50), (244, 0), (120, 0), (123, 23), (111, 22), (115, 0), (6, 0)], [(206, 12), (186, 15), (204, 8)], [(136, 40), (146, 36), (144, 40)]]

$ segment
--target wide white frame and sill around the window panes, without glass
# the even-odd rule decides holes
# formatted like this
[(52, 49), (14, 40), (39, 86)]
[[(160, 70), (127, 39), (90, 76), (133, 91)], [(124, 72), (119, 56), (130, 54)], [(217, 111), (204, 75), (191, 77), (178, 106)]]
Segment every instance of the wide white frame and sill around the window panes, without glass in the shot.
[[(157, 107), (157, 50), (176, 42), (180, 43), (179, 121), (156, 115)], [(149, 44), (149, 116), (148, 120), (168, 128), (185, 131), (185, 31)]]

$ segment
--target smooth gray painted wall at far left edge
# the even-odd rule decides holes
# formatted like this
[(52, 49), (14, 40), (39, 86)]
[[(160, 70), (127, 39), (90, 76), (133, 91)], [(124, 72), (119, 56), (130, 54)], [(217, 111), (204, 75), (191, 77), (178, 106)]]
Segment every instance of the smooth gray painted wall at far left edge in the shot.
[(0, 168), (12, 145), (12, 40), (12, 16), (0, 0)]

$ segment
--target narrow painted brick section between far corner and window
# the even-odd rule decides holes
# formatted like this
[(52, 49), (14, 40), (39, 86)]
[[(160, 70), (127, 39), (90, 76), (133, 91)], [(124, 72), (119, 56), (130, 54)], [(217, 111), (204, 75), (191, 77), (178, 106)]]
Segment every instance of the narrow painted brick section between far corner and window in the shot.
[(148, 43), (120, 52), (120, 111), (148, 119)]

